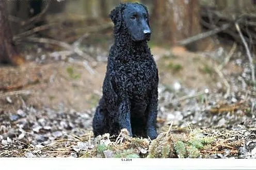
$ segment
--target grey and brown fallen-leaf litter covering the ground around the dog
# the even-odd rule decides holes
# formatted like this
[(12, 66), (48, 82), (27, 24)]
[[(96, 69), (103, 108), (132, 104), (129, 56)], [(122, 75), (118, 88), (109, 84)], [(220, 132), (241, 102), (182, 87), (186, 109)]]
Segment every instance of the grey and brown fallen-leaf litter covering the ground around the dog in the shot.
[[(237, 54), (232, 63), (241, 66), (241, 58)], [(118, 136), (94, 137), (95, 107), (75, 111), (63, 105), (37, 108), (23, 102), (16, 111), (0, 109), (0, 157), (256, 158), (256, 91), (248, 62), (243, 59), (243, 63), (241, 74), (228, 77), (232, 89), (228, 97), (221, 80), (215, 82), (216, 88), (198, 89), (161, 80), (155, 140), (129, 137), (126, 129)], [(72, 81), (82, 79), (67, 68)], [(1, 103), (23, 101), (17, 96), (2, 98)]]

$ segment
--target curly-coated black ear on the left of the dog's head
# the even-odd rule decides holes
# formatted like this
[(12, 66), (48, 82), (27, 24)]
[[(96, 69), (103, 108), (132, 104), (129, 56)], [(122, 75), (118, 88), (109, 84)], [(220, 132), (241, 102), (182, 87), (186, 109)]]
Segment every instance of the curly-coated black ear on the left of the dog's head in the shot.
[(124, 4), (120, 4), (115, 9), (113, 9), (109, 14), (111, 21), (115, 25), (114, 33), (118, 33), (121, 28), (122, 20), (123, 20), (122, 18), (123, 8), (124, 8)]

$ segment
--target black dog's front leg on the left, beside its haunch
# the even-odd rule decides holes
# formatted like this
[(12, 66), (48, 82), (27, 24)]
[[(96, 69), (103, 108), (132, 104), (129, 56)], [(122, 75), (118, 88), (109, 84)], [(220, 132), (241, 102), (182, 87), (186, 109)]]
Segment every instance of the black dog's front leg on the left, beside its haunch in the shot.
[(123, 99), (118, 107), (118, 122), (119, 128), (123, 129), (126, 128), (130, 134), (132, 134), (132, 126), (131, 126), (131, 109), (130, 109), (130, 102), (128, 98)]

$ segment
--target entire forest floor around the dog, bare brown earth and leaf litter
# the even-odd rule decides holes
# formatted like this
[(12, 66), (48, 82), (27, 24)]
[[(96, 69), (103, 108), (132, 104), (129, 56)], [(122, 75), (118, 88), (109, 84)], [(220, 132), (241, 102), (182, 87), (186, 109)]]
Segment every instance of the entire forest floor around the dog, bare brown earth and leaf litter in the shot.
[(95, 60), (91, 72), (76, 54), (29, 43), (21, 47), (24, 65), (0, 67), (0, 157), (256, 158), (256, 90), (247, 56), (232, 44), (203, 52), (150, 44), (158, 138), (130, 138), (125, 129), (95, 138), (112, 43), (105, 32), (80, 44)]

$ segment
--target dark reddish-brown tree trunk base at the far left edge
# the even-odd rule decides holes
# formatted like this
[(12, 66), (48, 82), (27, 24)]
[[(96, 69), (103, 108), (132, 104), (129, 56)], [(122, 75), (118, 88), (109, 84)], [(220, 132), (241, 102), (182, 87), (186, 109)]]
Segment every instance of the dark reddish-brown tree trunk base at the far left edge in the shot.
[(4, 0), (0, 0), (0, 63), (20, 65), (24, 62), (12, 41), (8, 13)]

